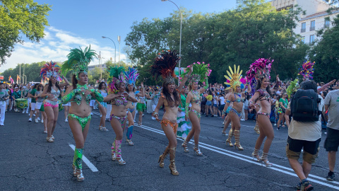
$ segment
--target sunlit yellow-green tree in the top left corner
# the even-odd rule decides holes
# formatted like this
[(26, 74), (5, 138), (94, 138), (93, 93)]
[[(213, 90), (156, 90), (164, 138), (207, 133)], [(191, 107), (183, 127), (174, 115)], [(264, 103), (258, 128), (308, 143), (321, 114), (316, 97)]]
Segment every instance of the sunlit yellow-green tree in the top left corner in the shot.
[(46, 16), (51, 6), (37, 4), (33, 0), (0, 1), (0, 59), (5, 64), (11, 57), (16, 43), (23, 43), (20, 33), (32, 42), (44, 37), (44, 26), (48, 25)]

